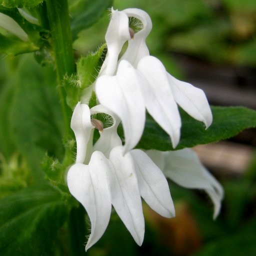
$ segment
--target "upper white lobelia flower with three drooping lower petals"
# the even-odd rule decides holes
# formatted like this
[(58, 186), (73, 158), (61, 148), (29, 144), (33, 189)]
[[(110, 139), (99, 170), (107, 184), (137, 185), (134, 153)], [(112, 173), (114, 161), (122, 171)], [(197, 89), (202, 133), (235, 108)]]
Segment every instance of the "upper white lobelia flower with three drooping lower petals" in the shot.
[[(129, 17), (142, 23), (134, 33)], [(99, 102), (122, 121), (124, 152), (139, 141), (145, 110), (171, 137), (173, 148), (180, 137), (181, 120), (177, 104), (196, 120), (211, 124), (212, 114), (204, 92), (170, 75), (157, 58), (150, 56), (145, 38), (152, 27), (146, 12), (136, 8), (113, 10), (105, 40), (108, 52), (96, 80)], [(118, 60), (125, 41), (128, 46)]]

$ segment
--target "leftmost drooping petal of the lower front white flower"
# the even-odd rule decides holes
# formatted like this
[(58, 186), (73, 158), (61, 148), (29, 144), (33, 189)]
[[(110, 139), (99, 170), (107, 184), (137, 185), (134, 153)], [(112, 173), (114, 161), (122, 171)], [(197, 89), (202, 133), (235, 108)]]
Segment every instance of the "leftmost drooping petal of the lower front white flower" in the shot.
[(86, 209), (91, 222), (91, 233), (85, 250), (102, 236), (109, 222), (111, 201), (106, 168), (107, 159), (96, 151), (93, 152), (89, 165), (76, 163), (67, 173), (68, 189)]

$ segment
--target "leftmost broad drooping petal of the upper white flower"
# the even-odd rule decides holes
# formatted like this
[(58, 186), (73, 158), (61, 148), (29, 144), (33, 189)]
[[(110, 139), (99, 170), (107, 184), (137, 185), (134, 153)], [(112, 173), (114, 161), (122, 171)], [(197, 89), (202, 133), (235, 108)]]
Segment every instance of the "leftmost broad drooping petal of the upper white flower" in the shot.
[(122, 121), (125, 152), (138, 143), (144, 129), (145, 106), (139, 79), (131, 64), (122, 60), (115, 76), (100, 76), (95, 86), (99, 102)]

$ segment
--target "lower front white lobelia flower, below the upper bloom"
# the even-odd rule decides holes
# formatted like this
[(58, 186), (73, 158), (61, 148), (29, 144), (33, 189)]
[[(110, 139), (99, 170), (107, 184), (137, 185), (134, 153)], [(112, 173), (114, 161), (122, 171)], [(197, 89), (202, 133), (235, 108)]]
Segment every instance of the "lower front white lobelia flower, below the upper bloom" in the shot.
[[(111, 126), (100, 127), (100, 138), (92, 147), (93, 125), (89, 120), (97, 113), (107, 114), (113, 120)], [(78, 102), (73, 111), (71, 127), (76, 138), (77, 157), (76, 163), (68, 170), (67, 185), (90, 218), (91, 233), (86, 250), (104, 233), (111, 204), (139, 245), (144, 236), (140, 196), (162, 216), (175, 215), (168, 183), (157, 165), (139, 149), (123, 154), (121, 140), (116, 133), (119, 122), (115, 114), (101, 105), (89, 109)]]

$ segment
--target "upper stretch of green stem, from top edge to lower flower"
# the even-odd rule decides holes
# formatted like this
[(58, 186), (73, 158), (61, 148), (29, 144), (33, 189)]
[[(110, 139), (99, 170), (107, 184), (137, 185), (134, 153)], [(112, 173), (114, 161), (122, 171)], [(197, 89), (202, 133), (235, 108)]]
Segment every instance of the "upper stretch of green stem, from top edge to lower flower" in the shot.
[(66, 93), (62, 84), (64, 76), (71, 75), (75, 71), (67, 0), (47, 0), (46, 9), (55, 57), (58, 94), (64, 118), (65, 137), (71, 137), (71, 109), (66, 103)]

